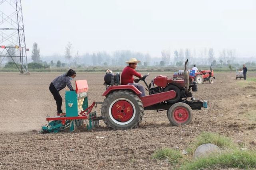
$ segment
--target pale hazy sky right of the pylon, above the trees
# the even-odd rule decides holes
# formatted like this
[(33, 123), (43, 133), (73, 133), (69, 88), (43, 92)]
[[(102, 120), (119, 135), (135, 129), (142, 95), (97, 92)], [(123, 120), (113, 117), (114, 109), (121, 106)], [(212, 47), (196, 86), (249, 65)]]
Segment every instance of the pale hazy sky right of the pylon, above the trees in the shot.
[[(236, 49), (256, 55), (256, 0), (22, 0), (27, 48), (41, 55)], [(31, 55), (31, 51), (28, 53)], [(218, 57), (218, 56), (216, 56)]]

